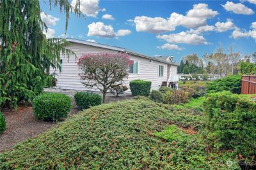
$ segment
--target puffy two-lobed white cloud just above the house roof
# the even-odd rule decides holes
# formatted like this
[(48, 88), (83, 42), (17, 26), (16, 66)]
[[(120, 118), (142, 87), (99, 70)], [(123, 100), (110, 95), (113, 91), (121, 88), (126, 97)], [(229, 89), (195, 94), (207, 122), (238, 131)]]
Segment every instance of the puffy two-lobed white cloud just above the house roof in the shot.
[(131, 34), (131, 31), (128, 29), (120, 29), (115, 32), (111, 25), (104, 25), (102, 22), (93, 22), (88, 25), (88, 29), (87, 36), (99, 36), (104, 38), (114, 38)]

